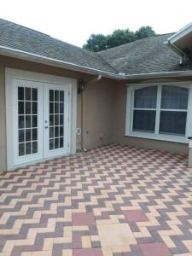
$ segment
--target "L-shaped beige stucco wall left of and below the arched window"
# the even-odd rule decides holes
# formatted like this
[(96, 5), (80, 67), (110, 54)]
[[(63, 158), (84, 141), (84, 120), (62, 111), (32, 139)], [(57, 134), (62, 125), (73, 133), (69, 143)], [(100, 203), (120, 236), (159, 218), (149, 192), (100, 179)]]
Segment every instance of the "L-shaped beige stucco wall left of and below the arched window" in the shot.
[(126, 86), (125, 83), (117, 83), (114, 88), (113, 102), (113, 143), (133, 145), (141, 148), (152, 148), (162, 151), (170, 151), (179, 154), (188, 154), (189, 145), (183, 143), (170, 143), (154, 139), (138, 137), (125, 137), (126, 114)]

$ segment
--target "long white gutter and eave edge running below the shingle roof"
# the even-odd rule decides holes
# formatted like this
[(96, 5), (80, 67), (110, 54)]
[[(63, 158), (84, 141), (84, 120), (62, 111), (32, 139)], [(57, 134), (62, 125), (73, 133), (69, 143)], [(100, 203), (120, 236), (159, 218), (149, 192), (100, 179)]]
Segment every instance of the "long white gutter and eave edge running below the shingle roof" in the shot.
[(12, 49), (9, 47), (0, 46), (0, 55), (6, 55), (9, 57), (15, 57), (24, 61), (33, 61), (52, 67), (61, 67), (67, 68), (69, 70), (81, 72), (81, 73), (90, 73), (94, 75), (102, 75), (102, 77), (108, 79), (116, 80), (134, 80), (134, 79), (160, 79), (160, 78), (175, 78), (181, 76), (192, 76), (192, 70), (189, 71), (173, 71), (173, 72), (160, 72), (160, 73), (140, 73), (140, 74), (118, 74), (118, 73), (109, 73), (106, 71), (98, 70), (91, 67), (84, 67), (78, 64), (70, 63), (67, 61), (59, 61), (43, 55), (36, 55), (21, 51), (19, 49)]

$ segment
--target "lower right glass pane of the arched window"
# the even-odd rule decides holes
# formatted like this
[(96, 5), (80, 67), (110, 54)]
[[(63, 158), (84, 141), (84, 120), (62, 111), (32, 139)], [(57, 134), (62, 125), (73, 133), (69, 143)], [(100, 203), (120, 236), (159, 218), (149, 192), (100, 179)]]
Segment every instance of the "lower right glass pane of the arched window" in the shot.
[(160, 133), (185, 135), (186, 112), (161, 111)]

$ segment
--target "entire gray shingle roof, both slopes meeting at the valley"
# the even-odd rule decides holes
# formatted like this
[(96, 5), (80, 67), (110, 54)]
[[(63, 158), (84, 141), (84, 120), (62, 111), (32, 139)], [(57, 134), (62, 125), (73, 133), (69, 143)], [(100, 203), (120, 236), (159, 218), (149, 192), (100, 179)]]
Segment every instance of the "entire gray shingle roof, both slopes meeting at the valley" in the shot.
[(108, 73), (142, 74), (192, 70), (192, 61), (184, 59), (183, 66), (179, 66), (179, 56), (164, 44), (171, 35), (144, 38), (93, 53), (42, 32), (0, 19), (0, 46)]

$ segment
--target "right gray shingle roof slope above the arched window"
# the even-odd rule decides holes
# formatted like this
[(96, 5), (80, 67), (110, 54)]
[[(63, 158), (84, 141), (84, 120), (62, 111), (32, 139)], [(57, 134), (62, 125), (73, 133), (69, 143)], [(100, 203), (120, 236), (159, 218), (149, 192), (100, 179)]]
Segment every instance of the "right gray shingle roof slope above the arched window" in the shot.
[(183, 66), (180, 66), (179, 56), (164, 44), (172, 34), (143, 38), (103, 50), (98, 54), (121, 73), (138, 74), (191, 70), (192, 61), (184, 59)]

